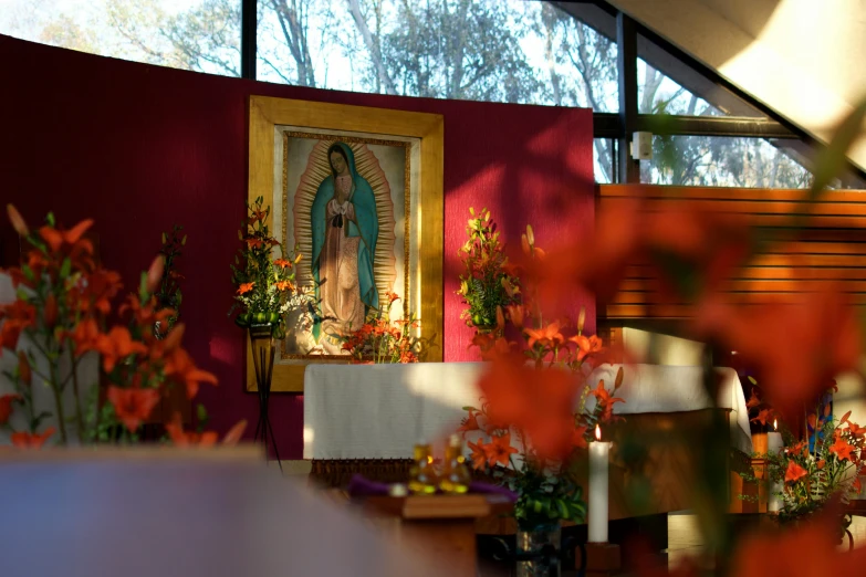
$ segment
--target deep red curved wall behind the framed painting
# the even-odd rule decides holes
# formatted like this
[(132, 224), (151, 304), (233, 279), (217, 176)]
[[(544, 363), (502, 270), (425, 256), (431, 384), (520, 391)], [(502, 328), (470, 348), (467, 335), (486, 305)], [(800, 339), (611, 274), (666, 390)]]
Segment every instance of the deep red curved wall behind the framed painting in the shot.
[[(445, 357), (471, 359), (462, 325), (457, 250), (469, 206), (493, 211), (519, 244), (528, 222), (550, 246), (593, 225), (592, 115), (586, 109), (436, 101), (273, 85), (131, 63), (0, 35), (0, 190), (24, 218), (93, 218), (103, 263), (134, 287), (160, 231), (184, 224), (185, 342), (218, 388), (199, 396), (212, 424), (255, 422), (243, 390), (244, 334), (227, 317), (228, 263), (247, 197), (251, 94), (445, 116)], [(3, 265), (18, 240), (3, 218)], [(595, 318), (593, 300), (587, 319)], [(594, 324), (594, 323), (591, 323)], [(592, 328), (592, 327), (591, 327)], [(272, 398), (281, 457), (302, 453), (303, 398)], [(250, 436), (252, 431), (249, 431)]]

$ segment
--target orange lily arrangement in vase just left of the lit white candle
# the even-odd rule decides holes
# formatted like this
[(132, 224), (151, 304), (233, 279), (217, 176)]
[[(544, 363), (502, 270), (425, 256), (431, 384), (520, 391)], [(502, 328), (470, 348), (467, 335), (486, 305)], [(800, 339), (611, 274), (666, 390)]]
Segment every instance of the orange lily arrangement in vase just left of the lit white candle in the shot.
[[(531, 227), (522, 245), (528, 259), (544, 258), (544, 251), (534, 245)], [(587, 447), (596, 424), (616, 419), (614, 405), (624, 402), (607, 390), (604, 380), (595, 389), (586, 382), (587, 369), (603, 347), (597, 336), (583, 334), (585, 312), (581, 311), (576, 334), (567, 338), (561, 332), (566, 319), (542, 324), (533, 281), (526, 276), (525, 291), (515, 293), (504, 311), (497, 307), (499, 336), (476, 336), (474, 345), (493, 364), (480, 382), (481, 407), (465, 407), (468, 416), (459, 428), (474, 438), (468, 443), (473, 469), (519, 495), (514, 515), (528, 528), (583, 520), (586, 505), (574, 475), (578, 451)], [(522, 345), (502, 336), (507, 323), (521, 332)], [(620, 369), (614, 391), (622, 381)], [(589, 396), (596, 402), (587, 411)]]

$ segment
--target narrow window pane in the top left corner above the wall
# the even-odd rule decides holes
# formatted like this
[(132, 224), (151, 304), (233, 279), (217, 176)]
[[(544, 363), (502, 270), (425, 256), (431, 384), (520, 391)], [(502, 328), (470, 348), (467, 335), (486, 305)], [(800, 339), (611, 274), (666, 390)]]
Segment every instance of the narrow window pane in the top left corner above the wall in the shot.
[(241, 0), (10, 0), (0, 33), (103, 56), (240, 75)]

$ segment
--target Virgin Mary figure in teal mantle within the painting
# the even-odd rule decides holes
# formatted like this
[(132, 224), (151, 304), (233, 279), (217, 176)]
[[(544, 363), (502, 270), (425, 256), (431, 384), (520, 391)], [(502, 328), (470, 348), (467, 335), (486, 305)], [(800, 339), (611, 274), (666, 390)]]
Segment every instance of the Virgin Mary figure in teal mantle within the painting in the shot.
[(327, 159), (331, 175), (319, 185), (311, 209), (312, 272), (322, 310), (313, 337), (326, 354), (340, 355), (333, 337), (361, 327), (369, 308), (379, 306), (373, 277), (379, 221), (373, 188), (357, 174), (352, 148), (335, 143)]

